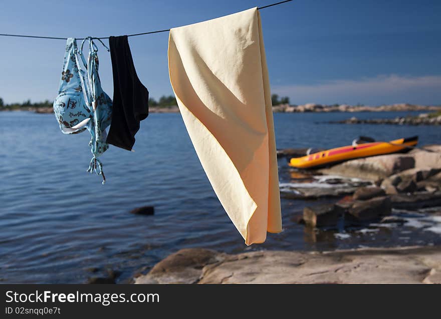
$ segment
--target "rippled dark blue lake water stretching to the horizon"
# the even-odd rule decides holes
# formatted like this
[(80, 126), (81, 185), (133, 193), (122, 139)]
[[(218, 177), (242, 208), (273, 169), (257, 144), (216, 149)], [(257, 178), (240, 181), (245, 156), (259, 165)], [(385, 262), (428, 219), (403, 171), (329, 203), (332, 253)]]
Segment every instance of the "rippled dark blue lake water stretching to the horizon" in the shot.
[[(317, 123), (405, 114), (276, 113), (277, 146), (329, 148), (359, 135), (419, 135), (420, 144), (439, 143), (437, 126)], [(100, 157), (105, 185), (85, 171), (89, 139), (87, 131), (62, 134), (53, 114), (0, 112), (0, 282), (85, 282), (107, 268), (122, 271), (124, 282), (184, 247), (242, 252), (441, 244), (441, 235), (427, 227), (310, 231), (295, 218), (314, 202), (282, 199), (283, 232), (247, 247), (217, 200), (180, 114), (150, 114), (135, 152), (111, 146)], [(281, 182), (289, 182), (286, 159), (279, 167)], [(153, 205), (155, 214), (129, 213), (142, 205)]]

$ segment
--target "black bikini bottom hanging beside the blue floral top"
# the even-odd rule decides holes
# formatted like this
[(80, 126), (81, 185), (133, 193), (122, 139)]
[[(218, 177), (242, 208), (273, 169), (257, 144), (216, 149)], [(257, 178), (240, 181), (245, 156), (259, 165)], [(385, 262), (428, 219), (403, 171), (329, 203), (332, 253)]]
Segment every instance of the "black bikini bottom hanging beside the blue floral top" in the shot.
[(109, 37), (113, 70), (113, 116), (107, 142), (131, 150), (139, 122), (148, 115), (148, 90), (133, 65), (127, 35)]

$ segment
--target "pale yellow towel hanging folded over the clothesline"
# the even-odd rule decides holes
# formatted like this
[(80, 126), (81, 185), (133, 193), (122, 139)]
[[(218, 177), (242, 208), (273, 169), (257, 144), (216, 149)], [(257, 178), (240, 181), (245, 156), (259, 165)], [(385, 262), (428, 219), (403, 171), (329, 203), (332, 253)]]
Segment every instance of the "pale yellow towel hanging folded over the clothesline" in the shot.
[(282, 230), (276, 140), (257, 8), (172, 28), (168, 70), (194, 148), (245, 243)]

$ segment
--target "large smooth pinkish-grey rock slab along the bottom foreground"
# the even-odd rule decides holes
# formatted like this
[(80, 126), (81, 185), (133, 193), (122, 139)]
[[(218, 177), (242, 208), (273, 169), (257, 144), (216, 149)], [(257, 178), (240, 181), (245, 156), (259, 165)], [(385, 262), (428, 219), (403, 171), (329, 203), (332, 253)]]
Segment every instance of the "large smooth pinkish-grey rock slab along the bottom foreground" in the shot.
[(237, 255), (190, 248), (135, 283), (441, 283), (440, 274), (439, 246)]

